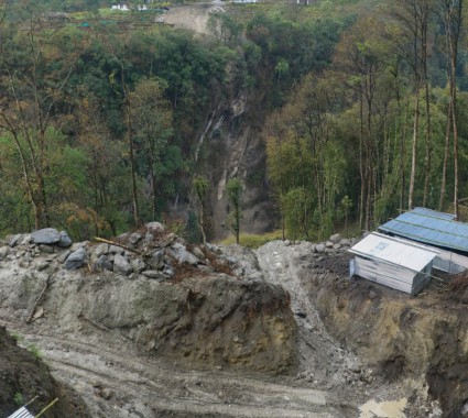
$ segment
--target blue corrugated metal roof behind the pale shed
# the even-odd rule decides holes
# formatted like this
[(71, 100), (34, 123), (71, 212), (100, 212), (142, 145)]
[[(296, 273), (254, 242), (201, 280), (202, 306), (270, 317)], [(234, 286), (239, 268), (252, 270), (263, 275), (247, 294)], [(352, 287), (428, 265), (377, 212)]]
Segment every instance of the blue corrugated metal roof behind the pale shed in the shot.
[(453, 218), (449, 213), (417, 208), (400, 215), (379, 227), (379, 230), (427, 244), (468, 252), (468, 224), (454, 221)]

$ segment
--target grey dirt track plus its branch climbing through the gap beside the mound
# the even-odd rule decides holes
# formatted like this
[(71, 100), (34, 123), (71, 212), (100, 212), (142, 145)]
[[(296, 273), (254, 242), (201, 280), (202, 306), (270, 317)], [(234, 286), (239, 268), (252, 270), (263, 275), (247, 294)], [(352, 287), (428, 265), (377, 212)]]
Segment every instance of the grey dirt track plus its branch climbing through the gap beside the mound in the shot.
[(297, 376), (193, 371), (84, 320), (66, 330), (52, 317), (25, 324), (18, 312), (0, 309), (0, 323), (24, 336), (24, 345), (39, 348), (54, 377), (73, 386), (95, 418), (353, 417), (356, 395), (347, 392), (344, 375), (357, 360), (327, 334), (301, 286), (297, 261), (307, 251), (276, 241), (257, 252), (265, 279), (292, 296), (300, 329)]

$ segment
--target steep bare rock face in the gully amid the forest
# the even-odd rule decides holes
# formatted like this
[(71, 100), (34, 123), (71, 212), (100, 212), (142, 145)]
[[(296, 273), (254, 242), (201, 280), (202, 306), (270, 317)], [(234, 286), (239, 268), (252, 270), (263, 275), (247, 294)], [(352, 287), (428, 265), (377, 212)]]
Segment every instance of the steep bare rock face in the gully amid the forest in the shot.
[(199, 172), (211, 184), (210, 223), (216, 238), (229, 233), (226, 184), (232, 177), (244, 184), (241, 230), (260, 233), (274, 227), (261, 121), (250, 99), (242, 92), (233, 95), (230, 102), (211, 113), (198, 138), (196, 160)]

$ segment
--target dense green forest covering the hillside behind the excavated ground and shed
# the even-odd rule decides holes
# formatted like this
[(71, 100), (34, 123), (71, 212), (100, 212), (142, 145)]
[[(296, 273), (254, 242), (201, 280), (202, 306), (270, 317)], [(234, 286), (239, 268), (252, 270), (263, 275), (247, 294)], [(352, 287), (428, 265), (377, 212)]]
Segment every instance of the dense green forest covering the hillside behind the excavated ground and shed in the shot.
[[(243, 4), (213, 13), (203, 36), (132, 24), (135, 13), (121, 24), (98, 6), (4, 9), (0, 233), (54, 226), (88, 239), (154, 219), (200, 229), (208, 201), (192, 179), (206, 184), (210, 154), (195, 156), (196, 139), (238, 91), (289, 237), (322, 237), (345, 219), (369, 229), (414, 206), (460, 215), (462, 1)], [(79, 12), (57, 21), (47, 10)], [(171, 218), (174, 200), (194, 202), (187, 221)]]

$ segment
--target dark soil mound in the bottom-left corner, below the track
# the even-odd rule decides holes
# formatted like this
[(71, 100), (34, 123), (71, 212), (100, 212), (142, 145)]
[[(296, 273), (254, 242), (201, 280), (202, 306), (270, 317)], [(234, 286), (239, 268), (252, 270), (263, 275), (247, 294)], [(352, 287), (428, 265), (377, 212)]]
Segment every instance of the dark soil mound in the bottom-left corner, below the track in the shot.
[(21, 349), (3, 327), (0, 327), (0, 416), (7, 417), (37, 397), (29, 407), (33, 414), (58, 398), (47, 417), (90, 417), (79, 397), (51, 376), (37, 356), (37, 348)]

